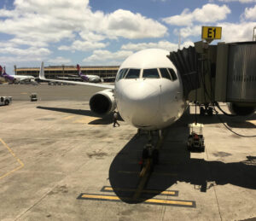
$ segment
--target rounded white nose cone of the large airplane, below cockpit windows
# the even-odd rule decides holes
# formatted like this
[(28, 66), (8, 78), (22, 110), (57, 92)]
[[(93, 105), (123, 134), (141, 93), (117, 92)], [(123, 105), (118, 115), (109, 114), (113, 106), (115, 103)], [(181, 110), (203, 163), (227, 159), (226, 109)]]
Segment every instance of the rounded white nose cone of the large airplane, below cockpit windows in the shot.
[(122, 92), (124, 119), (137, 127), (154, 124), (160, 107), (160, 87), (146, 81), (127, 85)]

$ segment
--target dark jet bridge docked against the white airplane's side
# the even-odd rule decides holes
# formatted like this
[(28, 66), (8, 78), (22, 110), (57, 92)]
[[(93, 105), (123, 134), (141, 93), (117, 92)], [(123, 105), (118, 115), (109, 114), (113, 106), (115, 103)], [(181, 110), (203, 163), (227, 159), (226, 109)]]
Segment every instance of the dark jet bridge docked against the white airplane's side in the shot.
[(183, 80), (184, 98), (208, 104), (229, 102), (231, 113), (256, 108), (256, 42), (196, 42), (168, 55)]

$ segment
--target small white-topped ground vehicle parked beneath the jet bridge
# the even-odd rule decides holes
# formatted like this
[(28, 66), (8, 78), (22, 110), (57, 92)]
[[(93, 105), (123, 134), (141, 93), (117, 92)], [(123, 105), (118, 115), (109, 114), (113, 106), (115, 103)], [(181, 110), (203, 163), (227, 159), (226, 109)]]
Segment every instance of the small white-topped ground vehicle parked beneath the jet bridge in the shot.
[(189, 137), (187, 147), (189, 151), (205, 151), (205, 138), (202, 134), (203, 125), (199, 123), (189, 124)]

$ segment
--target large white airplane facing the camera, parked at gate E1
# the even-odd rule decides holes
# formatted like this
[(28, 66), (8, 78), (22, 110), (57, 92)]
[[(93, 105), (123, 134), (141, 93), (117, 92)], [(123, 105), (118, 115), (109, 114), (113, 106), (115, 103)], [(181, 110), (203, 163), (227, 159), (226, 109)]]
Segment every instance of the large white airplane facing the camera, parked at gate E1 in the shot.
[(130, 55), (119, 67), (114, 84), (45, 79), (44, 62), (39, 79), (105, 89), (90, 97), (93, 113), (103, 116), (117, 109), (121, 118), (138, 130), (148, 131), (149, 135), (158, 130), (161, 134), (188, 107), (181, 75), (166, 55), (169, 51), (164, 49), (143, 49)]

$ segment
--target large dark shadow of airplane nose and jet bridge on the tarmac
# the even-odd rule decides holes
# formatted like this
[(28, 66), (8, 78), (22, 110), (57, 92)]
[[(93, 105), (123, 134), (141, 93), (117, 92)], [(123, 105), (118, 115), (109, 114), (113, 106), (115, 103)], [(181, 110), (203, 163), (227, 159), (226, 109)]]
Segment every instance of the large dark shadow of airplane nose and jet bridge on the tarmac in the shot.
[[(247, 160), (233, 163), (190, 159), (190, 153), (186, 147), (189, 136), (187, 125), (193, 120), (193, 116), (185, 114), (183, 118), (166, 129), (164, 145), (160, 149), (160, 164), (154, 166), (154, 171), (144, 189), (154, 189), (160, 193), (170, 189), (177, 182), (190, 183), (202, 192), (206, 192), (214, 185), (227, 183), (256, 189), (256, 156), (247, 156)], [(137, 189), (139, 183), (139, 160), (146, 142), (146, 136), (131, 138), (131, 141), (115, 156), (109, 168), (110, 184), (121, 201), (139, 203), (159, 194), (142, 193), (137, 201), (131, 201), (134, 195), (131, 189)]]

